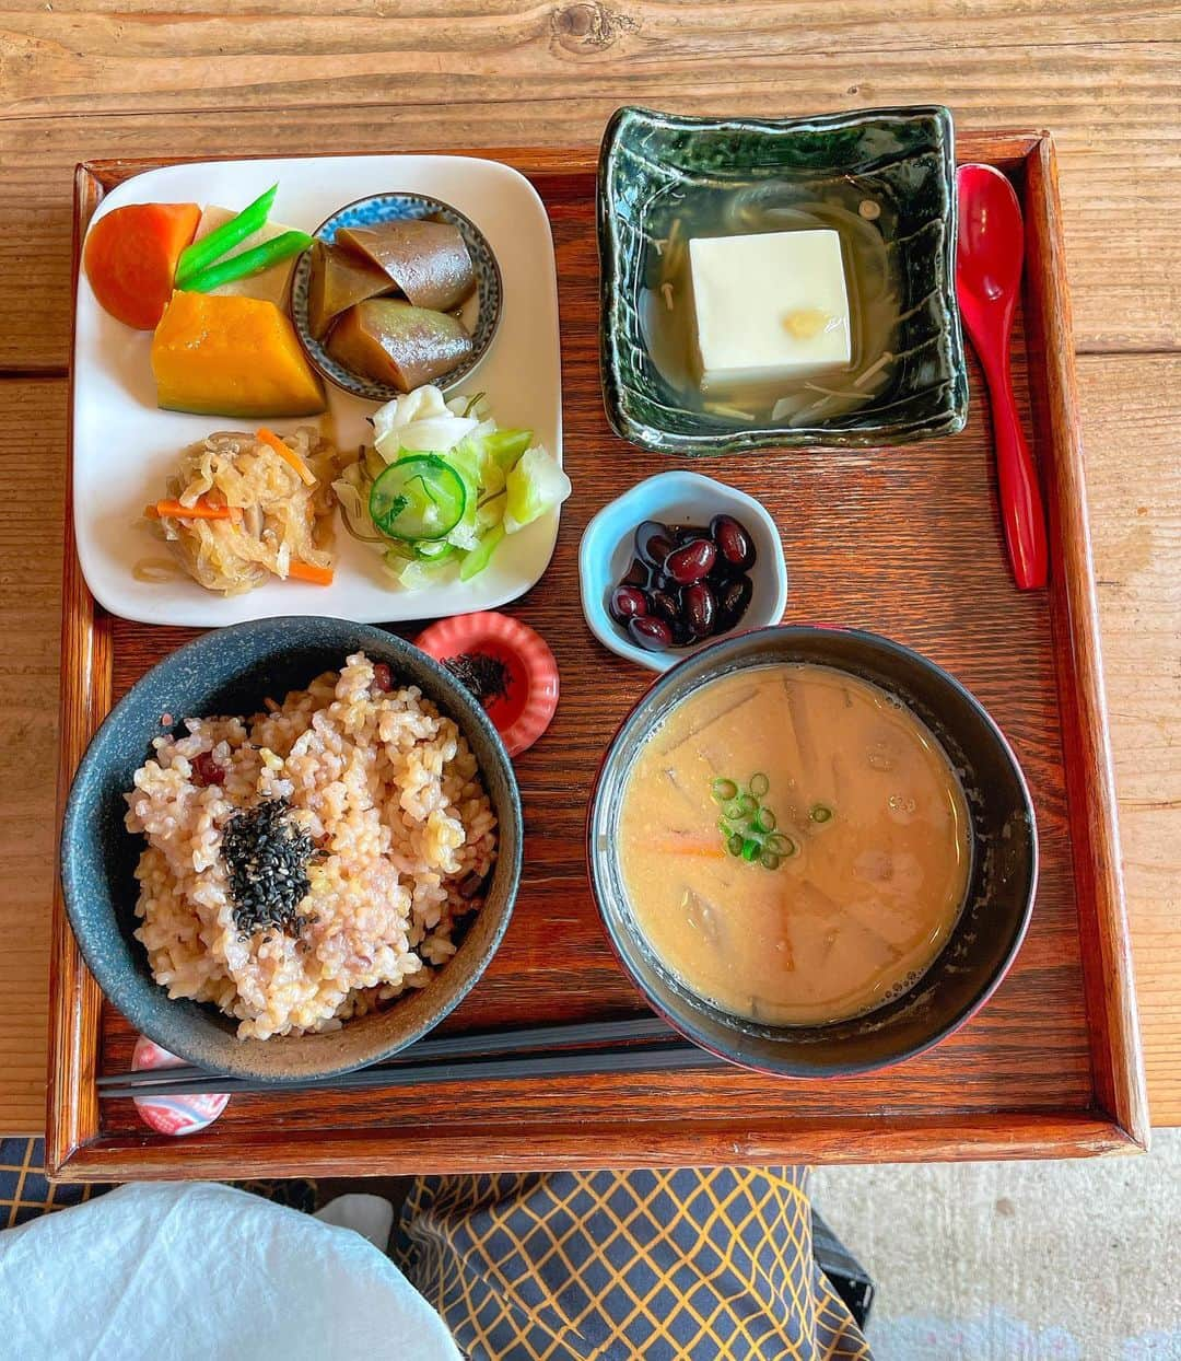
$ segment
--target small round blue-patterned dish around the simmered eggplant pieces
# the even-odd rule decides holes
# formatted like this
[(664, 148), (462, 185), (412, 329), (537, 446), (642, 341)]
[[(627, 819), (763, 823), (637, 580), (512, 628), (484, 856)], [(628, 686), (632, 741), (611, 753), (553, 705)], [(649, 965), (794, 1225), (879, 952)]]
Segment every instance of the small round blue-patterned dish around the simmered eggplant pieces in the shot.
[[(446, 393), (471, 376), (488, 352), (501, 324), (503, 309), (501, 267), (483, 231), (471, 218), (449, 203), (431, 199), (425, 193), (405, 192), (376, 193), (367, 199), (348, 203), (321, 222), (313, 235), (325, 245), (332, 245), (336, 241), (336, 233), (343, 227), (374, 227), (385, 222), (414, 218), (430, 218), (456, 227), (464, 240), (476, 272), (476, 290), (459, 312), (460, 320), (471, 333), (472, 350), (467, 359), (435, 381), (435, 387)], [(303, 346), (303, 352), (313, 367), (337, 388), (351, 392), (355, 397), (363, 397), (366, 401), (392, 401), (401, 396), (397, 388), (347, 369), (328, 352), (322, 340), (316, 339), (307, 317), (310, 280), (312, 255), (305, 250), (291, 274), (291, 321), (299, 344)]]

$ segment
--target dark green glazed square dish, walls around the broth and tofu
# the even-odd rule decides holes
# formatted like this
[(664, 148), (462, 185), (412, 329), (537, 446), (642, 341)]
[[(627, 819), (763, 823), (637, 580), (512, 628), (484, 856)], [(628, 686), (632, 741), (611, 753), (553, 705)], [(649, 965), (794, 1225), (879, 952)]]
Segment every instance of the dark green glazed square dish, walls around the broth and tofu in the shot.
[[(815, 188), (856, 176), (886, 203), (884, 246), (898, 294), (890, 382), (864, 406), (811, 425), (752, 426), (684, 406), (654, 366), (641, 324), (646, 245), (684, 189)], [(937, 105), (814, 118), (688, 118), (618, 109), (599, 158), (603, 399), (625, 440), (697, 456), (799, 445), (898, 445), (957, 434), (967, 370), (955, 302), (955, 136)]]

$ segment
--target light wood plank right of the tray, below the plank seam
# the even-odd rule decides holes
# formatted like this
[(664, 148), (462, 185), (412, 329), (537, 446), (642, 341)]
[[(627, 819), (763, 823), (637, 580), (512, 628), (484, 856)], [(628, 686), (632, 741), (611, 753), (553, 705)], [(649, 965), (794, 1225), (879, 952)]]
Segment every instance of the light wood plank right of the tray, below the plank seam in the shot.
[(1181, 359), (1080, 365), (1136, 996), (1155, 1124), (1181, 1123)]

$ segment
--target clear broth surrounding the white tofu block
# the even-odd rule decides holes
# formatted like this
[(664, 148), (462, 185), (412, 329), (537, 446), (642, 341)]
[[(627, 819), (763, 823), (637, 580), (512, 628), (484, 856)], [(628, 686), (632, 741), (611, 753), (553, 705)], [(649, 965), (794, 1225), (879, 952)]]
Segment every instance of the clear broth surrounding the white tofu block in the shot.
[[(876, 186), (871, 191), (856, 176), (834, 176), (812, 182), (678, 186), (653, 203), (639, 320), (653, 365), (683, 406), (791, 429), (856, 411), (890, 388), (899, 361), (893, 352), (899, 314), (888, 246), (897, 214), (876, 193)], [(849, 366), (703, 392), (688, 280), (690, 240), (823, 227), (841, 238), (852, 328)]]

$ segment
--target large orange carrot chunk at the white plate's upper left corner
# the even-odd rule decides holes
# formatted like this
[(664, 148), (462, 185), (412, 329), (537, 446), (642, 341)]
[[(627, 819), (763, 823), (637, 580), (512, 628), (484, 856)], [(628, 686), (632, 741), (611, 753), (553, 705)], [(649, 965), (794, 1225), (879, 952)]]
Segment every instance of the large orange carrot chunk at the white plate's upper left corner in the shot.
[(129, 203), (99, 218), (83, 252), (99, 304), (125, 325), (152, 331), (173, 295), (180, 253), (200, 220), (195, 203)]

